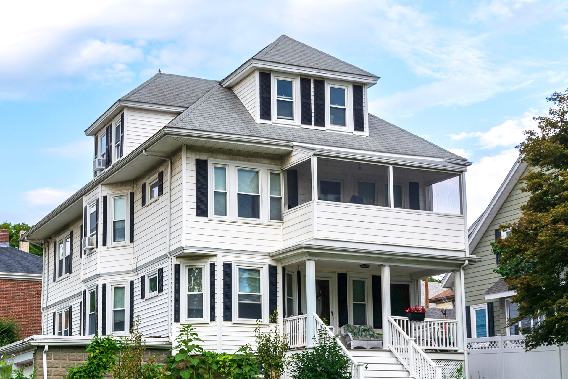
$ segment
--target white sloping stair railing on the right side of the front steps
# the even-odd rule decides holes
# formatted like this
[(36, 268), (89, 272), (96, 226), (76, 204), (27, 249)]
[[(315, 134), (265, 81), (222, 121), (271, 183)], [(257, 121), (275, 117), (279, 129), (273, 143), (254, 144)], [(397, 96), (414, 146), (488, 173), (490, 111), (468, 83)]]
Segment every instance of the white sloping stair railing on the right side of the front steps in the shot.
[(410, 372), (410, 376), (416, 379), (442, 379), (442, 367), (435, 364), (426, 353), (418, 346), (414, 338), (411, 338), (389, 316), (390, 351)]

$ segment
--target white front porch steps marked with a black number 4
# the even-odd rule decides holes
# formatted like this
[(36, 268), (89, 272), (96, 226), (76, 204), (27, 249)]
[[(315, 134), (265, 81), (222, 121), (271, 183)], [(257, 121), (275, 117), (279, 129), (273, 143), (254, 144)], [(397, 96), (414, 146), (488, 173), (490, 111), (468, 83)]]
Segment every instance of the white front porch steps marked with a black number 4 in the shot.
[(390, 350), (385, 349), (349, 349), (349, 353), (357, 361), (367, 365), (363, 370), (365, 379), (409, 378), (410, 373), (398, 363)]

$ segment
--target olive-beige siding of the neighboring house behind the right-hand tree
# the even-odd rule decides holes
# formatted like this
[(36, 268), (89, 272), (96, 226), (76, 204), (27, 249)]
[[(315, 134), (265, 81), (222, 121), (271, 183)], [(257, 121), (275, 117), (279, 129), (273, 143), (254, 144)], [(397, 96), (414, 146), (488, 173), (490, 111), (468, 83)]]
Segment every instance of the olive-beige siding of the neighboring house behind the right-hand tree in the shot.
[[(509, 196), (497, 212), (494, 220), (491, 221), (491, 224), (483, 234), (483, 237), (479, 240), (475, 249), (470, 251), (470, 254), (482, 258), (483, 260), (465, 268), (466, 305), (488, 302), (485, 300), (485, 292), (495, 284), (496, 281), (501, 279), (500, 275), (493, 272), (497, 265), (495, 255), (491, 252), (490, 243), (495, 241), (495, 229), (498, 229), (499, 225), (519, 220), (522, 214), (520, 206), (525, 204), (531, 196), (528, 192), (521, 192), (523, 186), (524, 184), (517, 183), (515, 187), (513, 187), (511, 193), (509, 193)], [(495, 334), (506, 332), (504, 305), (504, 300), (493, 300)]]

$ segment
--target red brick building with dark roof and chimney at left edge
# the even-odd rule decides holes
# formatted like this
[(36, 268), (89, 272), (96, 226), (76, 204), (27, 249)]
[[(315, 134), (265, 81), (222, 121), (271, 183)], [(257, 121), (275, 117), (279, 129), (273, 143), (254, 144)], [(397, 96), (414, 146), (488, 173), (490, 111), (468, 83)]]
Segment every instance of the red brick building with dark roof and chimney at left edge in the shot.
[(29, 246), (10, 247), (8, 231), (0, 229), (0, 318), (14, 317), (22, 325), (22, 338), (41, 334), (43, 258), (30, 254)]

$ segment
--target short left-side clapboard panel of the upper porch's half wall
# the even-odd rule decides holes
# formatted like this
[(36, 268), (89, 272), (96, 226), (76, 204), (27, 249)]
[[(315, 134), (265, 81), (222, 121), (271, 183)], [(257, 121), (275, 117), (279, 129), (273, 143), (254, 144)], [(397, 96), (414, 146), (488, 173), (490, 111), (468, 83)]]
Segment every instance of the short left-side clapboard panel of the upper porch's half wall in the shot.
[(314, 203), (309, 202), (287, 210), (282, 225), (282, 246), (295, 245), (314, 237)]

